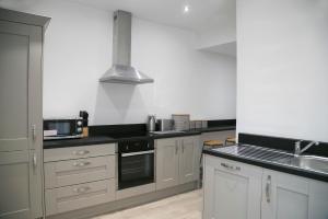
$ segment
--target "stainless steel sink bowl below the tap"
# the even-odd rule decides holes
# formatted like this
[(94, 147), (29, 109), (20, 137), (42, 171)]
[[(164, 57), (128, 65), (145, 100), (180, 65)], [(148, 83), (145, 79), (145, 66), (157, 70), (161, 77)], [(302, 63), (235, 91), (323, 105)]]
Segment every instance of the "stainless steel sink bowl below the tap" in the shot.
[(315, 157), (315, 155), (298, 155), (282, 162), (301, 169), (328, 173), (327, 158)]

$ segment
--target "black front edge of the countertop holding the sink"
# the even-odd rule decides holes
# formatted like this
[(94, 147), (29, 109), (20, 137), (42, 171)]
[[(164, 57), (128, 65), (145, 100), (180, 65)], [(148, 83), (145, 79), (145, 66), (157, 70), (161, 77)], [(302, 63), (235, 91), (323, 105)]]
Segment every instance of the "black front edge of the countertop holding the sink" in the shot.
[(316, 180), (316, 181), (328, 182), (328, 175), (320, 174), (320, 173), (317, 173), (314, 171), (301, 170), (301, 169), (295, 169), (293, 166), (285, 166), (285, 165), (280, 165), (277, 163), (262, 162), (262, 161), (258, 161), (258, 160), (250, 160), (250, 159), (231, 155), (231, 154), (226, 154), (226, 153), (220, 153), (218, 151), (211, 151), (210, 149), (203, 149), (202, 152), (204, 154), (224, 158), (224, 159), (229, 159), (229, 160), (233, 160), (233, 161), (238, 161), (238, 162), (243, 162), (243, 163), (247, 163), (247, 164), (251, 164), (251, 165), (257, 165), (257, 166), (270, 169), (273, 171), (298, 175), (298, 176), (303, 176), (303, 177), (307, 177), (307, 178), (312, 178), (312, 180)]

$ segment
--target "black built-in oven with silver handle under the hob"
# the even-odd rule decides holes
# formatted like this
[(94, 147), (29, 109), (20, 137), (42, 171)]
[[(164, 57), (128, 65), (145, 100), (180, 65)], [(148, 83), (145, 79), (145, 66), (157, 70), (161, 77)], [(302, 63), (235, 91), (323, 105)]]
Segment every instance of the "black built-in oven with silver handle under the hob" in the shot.
[(154, 183), (154, 140), (118, 142), (118, 189)]

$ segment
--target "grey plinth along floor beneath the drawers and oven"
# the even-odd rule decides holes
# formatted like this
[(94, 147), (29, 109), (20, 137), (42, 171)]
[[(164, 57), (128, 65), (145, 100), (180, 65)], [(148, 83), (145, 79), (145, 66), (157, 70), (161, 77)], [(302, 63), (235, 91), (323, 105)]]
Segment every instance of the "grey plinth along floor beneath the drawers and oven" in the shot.
[(92, 206), (89, 208), (83, 208), (79, 210), (73, 210), (65, 214), (59, 214), (55, 216), (48, 216), (47, 219), (90, 219), (91, 217), (95, 217), (98, 215), (104, 215), (117, 210), (122, 210), (126, 208), (143, 205), (147, 203), (155, 201), (162, 198), (166, 198), (173, 195), (177, 195), (180, 193), (186, 193), (192, 189), (196, 189), (198, 187), (197, 182), (187, 183), (184, 185), (178, 185), (175, 187), (162, 189), (162, 191), (155, 191), (152, 193), (133, 196), (130, 198), (121, 199), (121, 200), (115, 200), (112, 203), (106, 203), (97, 206)]

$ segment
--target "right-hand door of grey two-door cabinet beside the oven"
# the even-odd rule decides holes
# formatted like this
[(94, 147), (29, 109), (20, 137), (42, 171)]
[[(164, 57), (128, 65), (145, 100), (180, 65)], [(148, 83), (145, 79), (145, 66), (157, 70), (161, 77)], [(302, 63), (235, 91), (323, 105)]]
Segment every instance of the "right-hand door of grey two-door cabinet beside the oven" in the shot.
[(179, 157), (179, 183), (188, 183), (197, 180), (199, 173), (199, 141), (196, 137), (185, 137), (180, 140)]

